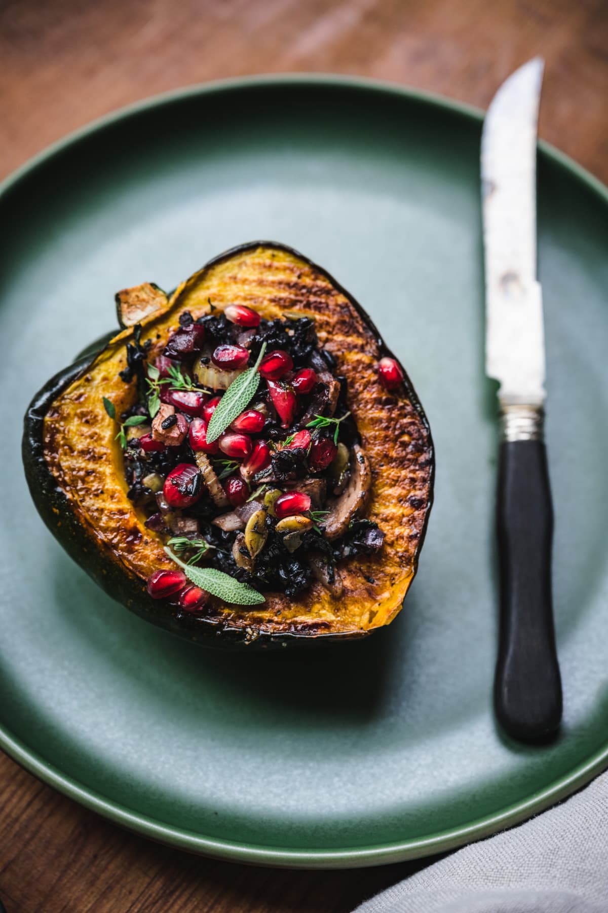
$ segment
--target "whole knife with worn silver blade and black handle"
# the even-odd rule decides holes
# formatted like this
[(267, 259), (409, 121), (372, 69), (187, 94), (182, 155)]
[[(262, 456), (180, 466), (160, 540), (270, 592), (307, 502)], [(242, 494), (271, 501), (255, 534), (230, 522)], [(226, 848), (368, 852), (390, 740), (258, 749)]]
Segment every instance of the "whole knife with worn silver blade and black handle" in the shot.
[(481, 137), (486, 373), (500, 383), (500, 636), (494, 705), (515, 739), (562, 719), (551, 605), (553, 511), (543, 436), (545, 355), (536, 278), (536, 135), (543, 61), (511, 74)]

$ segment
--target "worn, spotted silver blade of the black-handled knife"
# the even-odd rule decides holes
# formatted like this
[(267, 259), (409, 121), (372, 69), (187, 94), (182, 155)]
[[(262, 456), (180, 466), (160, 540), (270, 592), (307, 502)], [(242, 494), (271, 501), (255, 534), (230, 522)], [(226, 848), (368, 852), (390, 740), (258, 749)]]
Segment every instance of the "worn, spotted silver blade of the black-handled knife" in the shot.
[(517, 69), (489, 106), (481, 136), (486, 373), (502, 407), (545, 401), (541, 286), (536, 280), (536, 136), (541, 58)]

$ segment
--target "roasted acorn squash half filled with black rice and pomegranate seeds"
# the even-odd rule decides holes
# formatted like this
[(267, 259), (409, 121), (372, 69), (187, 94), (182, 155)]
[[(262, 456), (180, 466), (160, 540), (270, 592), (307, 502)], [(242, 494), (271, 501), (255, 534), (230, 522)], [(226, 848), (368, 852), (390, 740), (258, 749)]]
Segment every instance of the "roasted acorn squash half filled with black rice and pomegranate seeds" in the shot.
[(432, 499), (427, 419), (344, 289), (294, 250), (234, 248), (32, 401), (29, 488), (130, 610), (196, 641), (367, 635), (397, 615)]

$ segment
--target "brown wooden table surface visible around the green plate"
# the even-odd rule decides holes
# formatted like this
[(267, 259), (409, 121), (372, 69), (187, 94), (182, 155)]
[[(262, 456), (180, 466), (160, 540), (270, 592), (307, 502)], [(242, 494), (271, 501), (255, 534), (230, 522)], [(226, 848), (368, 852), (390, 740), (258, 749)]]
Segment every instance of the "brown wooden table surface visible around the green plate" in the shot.
[[(608, 182), (606, 0), (4, 0), (0, 176), (106, 111), (250, 73), (393, 79), (487, 106), (547, 62), (541, 136)], [(290, 872), (166, 849), (80, 808), (0, 755), (7, 913), (338, 913), (420, 864)]]

